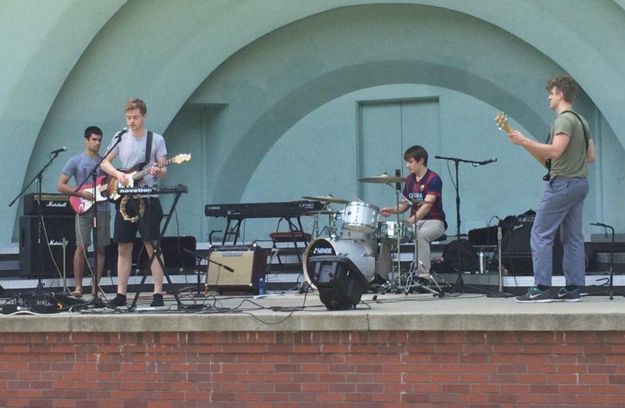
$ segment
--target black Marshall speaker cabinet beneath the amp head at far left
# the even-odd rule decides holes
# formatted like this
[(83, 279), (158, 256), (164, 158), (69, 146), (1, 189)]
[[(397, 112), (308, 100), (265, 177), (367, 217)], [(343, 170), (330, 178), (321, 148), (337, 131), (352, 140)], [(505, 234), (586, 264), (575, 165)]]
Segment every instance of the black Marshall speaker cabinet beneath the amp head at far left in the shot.
[[(38, 278), (42, 267), (42, 278), (58, 278), (58, 271), (63, 273), (63, 238), (65, 238), (67, 240), (65, 273), (68, 277), (72, 277), (76, 250), (74, 216), (44, 216), (41, 228), (37, 220), (36, 215), (19, 217), (19, 275), (22, 278)], [(58, 271), (54, 262), (58, 265)]]

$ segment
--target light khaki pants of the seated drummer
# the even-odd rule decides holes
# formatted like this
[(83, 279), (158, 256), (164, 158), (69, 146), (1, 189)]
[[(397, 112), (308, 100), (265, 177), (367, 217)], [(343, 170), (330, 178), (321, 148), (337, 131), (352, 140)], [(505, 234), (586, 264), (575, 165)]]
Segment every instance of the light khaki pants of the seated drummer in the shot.
[[(417, 273), (429, 273), (431, 266), (430, 243), (443, 235), (445, 224), (437, 219), (417, 221)], [(376, 262), (376, 274), (387, 279), (392, 266), (391, 242), (384, 241)]]

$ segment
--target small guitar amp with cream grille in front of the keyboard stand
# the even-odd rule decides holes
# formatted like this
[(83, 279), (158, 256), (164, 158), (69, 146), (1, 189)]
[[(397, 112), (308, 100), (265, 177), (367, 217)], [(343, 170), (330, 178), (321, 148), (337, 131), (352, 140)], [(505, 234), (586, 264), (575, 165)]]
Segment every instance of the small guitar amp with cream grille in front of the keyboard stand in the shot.
[(256, 245), (224, 245), (210, 248), (206, 289), (217, 291), (258, 291), (258, 278), (267, 272), (267, 250)]

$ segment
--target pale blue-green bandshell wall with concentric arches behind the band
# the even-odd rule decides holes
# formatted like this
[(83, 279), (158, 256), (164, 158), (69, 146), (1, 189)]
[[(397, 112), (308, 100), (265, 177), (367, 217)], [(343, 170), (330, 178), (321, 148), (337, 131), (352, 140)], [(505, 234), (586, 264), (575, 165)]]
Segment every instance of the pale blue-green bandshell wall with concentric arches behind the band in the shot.
[[(124, 126), (126, 99), (138, 96), (170, 153), (194, 155), (172, 168), (166, 183), (190, 186), (179, 207), (180, 232), (203, 241), (213, 228), (205, 203), (326, 194), (328, 182), (313, 174), (319, 171), (337, 185), (333, 194), (357, 195), (358, 158), (350, 150), (357, 102), (436, 97), (440, 151), (433, 154), (499, 157), (483, 169), (462, 169), (466, 231), (491, 214), (535, 207), (540, 169), (506, 144), (492, 116), (506, 110), (515, 125), (542, 138), (553, 117), (544, 83), (567, 71), (583, 87), (578, 110), (599, 147), (585, 220), (625, 229), (620, 0), (10, 0), (0, 11), (7, 204), (47, 152), (80, 150), (82, 130), (92, 123), (110, 137)], [(310, 152), (317, 139), (341, 147)], [(66, 158), (48, 171), (44, 189), (55, 189)], [(453, 215), (451, 182), (439, 170)], [(489, 187), (472, 187), (476, 178)], [(306, 183), (317, 192), (304, 191)], [(483, 191), (491, 196), (477, 194)], [(17, 238), (20, 210), (1, 211), (0, 241), (8, 243)], [(265, 230), (250, 225), (248, 235)]]

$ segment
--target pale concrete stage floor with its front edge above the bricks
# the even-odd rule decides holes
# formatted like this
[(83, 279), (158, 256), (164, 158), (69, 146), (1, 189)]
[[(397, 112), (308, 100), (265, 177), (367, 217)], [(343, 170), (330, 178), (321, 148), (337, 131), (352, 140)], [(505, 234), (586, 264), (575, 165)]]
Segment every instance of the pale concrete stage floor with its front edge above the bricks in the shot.
[[(112, 298), (113, 296), (108, 296)], [(129, 298), (130, 299), (130, 298)], [(517, 303), (512, 298), (465, 294), (363, 296), (356, 309), (329, 311), (316, 293), (253, 296), (173, 296), (151, 308), (142, 296), (135, 310), (2, 316), (3, 332), (233, 332), (331, 330), (552, 331), (625, 330), (625, 298), (587, 296), (579, 303)], [(131, 300), (128, 300), (130, 303)], [(197, 305), (197, 306), (195, 306)], [(193, 307), (201, 307), (192, 309)]]

